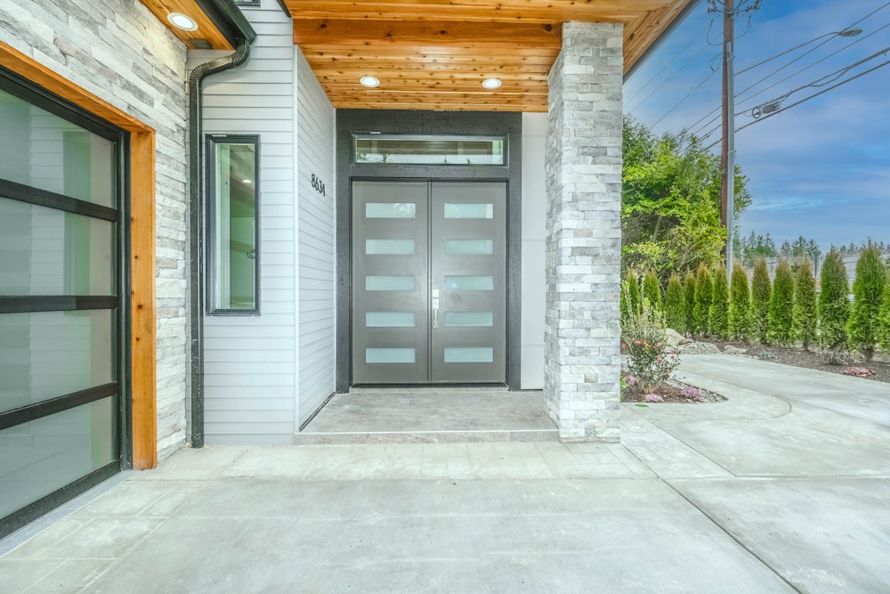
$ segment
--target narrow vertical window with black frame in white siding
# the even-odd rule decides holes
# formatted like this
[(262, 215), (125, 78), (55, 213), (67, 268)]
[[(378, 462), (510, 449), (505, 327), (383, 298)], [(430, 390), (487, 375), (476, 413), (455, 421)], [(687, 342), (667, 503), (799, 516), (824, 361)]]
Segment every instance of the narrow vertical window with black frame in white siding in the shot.
[(258, 136), (207, 137), (210, 313), (259, 313)]

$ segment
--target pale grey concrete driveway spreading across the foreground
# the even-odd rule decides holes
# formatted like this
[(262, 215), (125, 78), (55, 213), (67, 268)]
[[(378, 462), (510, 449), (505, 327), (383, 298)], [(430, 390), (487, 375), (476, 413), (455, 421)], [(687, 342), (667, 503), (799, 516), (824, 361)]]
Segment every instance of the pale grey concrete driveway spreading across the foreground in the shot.
[(890, 387), (729, 355), (621, 444), (184, 450), (0, 541), (19, 592), (886, 592)]

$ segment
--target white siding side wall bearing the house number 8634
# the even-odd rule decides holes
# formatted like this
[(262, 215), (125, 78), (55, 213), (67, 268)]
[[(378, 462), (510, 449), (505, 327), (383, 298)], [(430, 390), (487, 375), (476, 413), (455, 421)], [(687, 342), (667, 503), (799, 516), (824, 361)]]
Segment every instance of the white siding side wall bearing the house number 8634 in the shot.
[[(334, 391), (335, 232), (334, 108), (295, 47), (297, 64), (297, 216), (299, 410), (308, 419)], [(312, 188), (312, 175), (325, 194)]]

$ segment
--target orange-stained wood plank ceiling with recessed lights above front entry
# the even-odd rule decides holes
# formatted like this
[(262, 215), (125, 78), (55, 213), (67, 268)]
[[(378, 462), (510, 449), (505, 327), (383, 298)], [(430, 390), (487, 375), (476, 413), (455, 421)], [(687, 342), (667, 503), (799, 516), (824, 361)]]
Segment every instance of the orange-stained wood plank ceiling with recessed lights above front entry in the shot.
[[(336, 108), (546, 111), (563, 22), (624, 23), (627, 72), (690, 0), (284, 2)], [(502, 85), (483, 88), (490, 77)]]

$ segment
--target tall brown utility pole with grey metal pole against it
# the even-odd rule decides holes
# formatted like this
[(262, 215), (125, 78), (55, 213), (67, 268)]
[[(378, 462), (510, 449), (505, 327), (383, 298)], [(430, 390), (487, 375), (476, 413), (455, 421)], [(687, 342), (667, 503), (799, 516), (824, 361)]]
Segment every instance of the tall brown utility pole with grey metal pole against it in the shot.
[(720, 151), (720, 223), (726, 229), (726, 273), (732, 279), (732, 232), (735, 222), (735, 3), (724, 0), (723, 147)]

